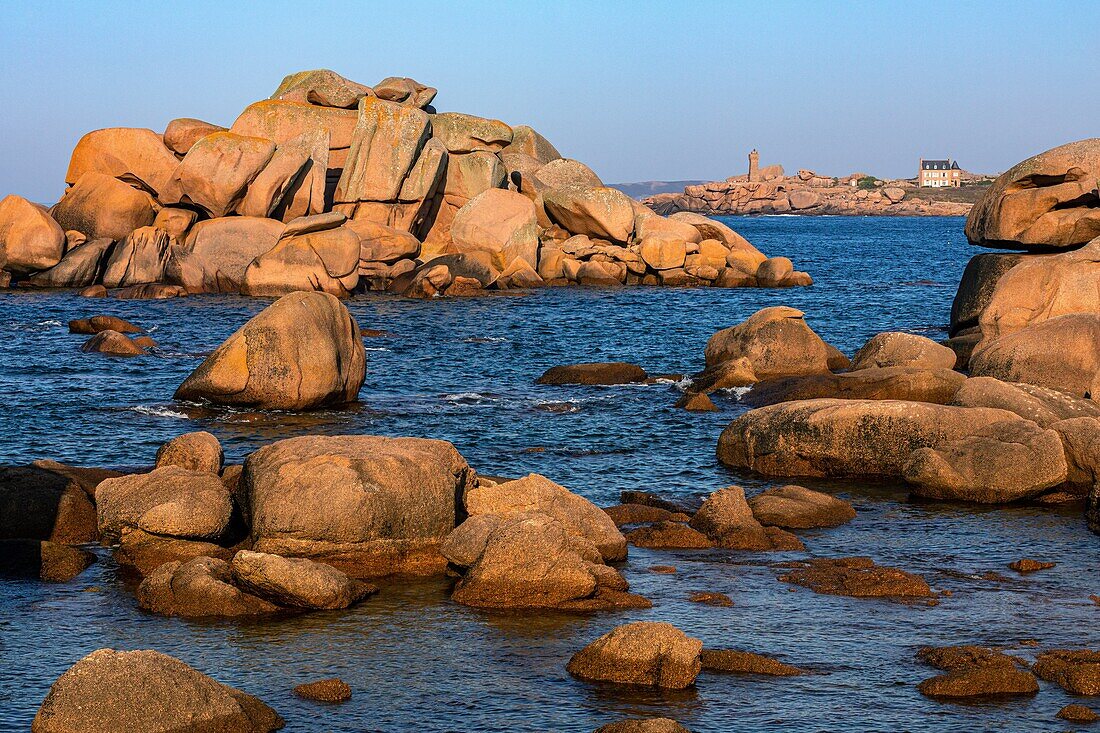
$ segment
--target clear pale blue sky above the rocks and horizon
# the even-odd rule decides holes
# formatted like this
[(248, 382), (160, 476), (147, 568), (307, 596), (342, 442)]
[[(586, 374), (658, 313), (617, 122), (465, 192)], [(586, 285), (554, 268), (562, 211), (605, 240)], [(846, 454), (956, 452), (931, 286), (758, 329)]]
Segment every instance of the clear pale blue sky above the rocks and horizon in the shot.
[(230, 124), (282, 77), (413, 76), (608, 182), (763, 164), (1000, 171), (1100, 134), (1093, 2), (4, 2), (0, 195), (57, 198), (102, 127)]

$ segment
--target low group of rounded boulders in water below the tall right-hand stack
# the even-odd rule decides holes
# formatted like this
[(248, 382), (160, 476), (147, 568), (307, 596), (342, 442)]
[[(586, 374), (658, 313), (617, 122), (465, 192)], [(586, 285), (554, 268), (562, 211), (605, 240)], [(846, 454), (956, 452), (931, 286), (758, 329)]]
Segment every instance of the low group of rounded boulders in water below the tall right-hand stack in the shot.
[(1100, 403), (1074, 383), (968, 378), (955, 362), (901, 332), (849, 361), (801, 311), (774, 307), (715, 333), (688, 390), (750, 385), (741, 400), (756, 408), (718, 441), (736, 469), (904, 480), (920, 496), (981, 503), (1060, 501), (1097, 484)]

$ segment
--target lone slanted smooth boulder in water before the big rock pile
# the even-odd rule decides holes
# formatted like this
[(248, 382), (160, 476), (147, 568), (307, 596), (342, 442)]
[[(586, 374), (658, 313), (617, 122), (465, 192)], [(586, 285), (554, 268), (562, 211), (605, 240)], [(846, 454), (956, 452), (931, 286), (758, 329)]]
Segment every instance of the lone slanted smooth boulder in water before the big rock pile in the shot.
[(311, 409), (354, 402), (365, 370), (359, 324), (340, 300), (326, 293), (292, 293), (207, 357), (175, 398)]

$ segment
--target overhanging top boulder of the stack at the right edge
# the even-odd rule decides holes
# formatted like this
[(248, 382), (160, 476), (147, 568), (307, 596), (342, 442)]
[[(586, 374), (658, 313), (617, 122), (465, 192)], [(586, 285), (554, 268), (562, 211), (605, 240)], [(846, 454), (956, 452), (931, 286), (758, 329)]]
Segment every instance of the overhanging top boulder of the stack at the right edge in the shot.
[(1100, 237), (1100, 138), (1040, 153), (1005, 171), (967, 217), (971, 244), (1075, 249)]

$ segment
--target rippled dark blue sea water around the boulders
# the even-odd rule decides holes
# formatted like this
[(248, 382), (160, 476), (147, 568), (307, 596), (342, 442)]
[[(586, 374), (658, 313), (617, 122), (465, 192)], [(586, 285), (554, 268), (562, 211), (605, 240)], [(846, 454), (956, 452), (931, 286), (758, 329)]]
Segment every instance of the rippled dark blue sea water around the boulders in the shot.
[[(672, 406), (671, 382), (652, 386), (536, 386), (547, 368), (634, 361), (650, 373), (690, 373), (716, 330), (789, 305), (851, 353), (883, 330), (943, 338), (955, 284), (974, 251), (961, 219), (761, 218), (729, 222), (769, 254), (790, 256), (816, 285), (761, 289), (548, 289), (524, 297), (413, 302), (360, 297), (348, 305), (367, 338), (362, 404), (315, 414), (180, 405), (183, 379), (266, 302), (189, 297), (87, 300), (0, 295), (0, 460), (53, 458), (140, 467), (156, 448), (206, 429), (227, 460), (300, 434), (381, 434), (453, 441), (479, 471), (544, 473), (601, 504), (624, 489), (705, 494), (772, 482), (719, 467), (722, 428), (743, 412)], [(156, 355), (84, 354), (72, 318), (99, 313), (155, 328)], [(774, 482), (781, 483), (781, 482)], [(102, 646), (155, 648), (255, 693), (290, 731), (591, 731), (627, 715), (669, 715), (693, 731), (1065, 730), (1072, 701), (1045, 685), (1032, 699), (957, 705), (925, 700), (922, 644), (1096, 645), (1089, 601), (1098, 541), (1078, 510), (972, 510), (906, 504), (897, 485), (828, 483), (859, 510), (850, 524), (803, 533), (812, 554), (873, 556), (950, 590), (935, 608), (816, 595), (776, 580), (768, 562), (802, 554), (657, 553), (631, 548), (625, 575), (654, 608), (593, 616), (493, 615), (454, 605), (442, 581), (387, 586), (346, 612), (255, 624), (161, 619), (135, 608), (109, 553), (75, 582), (0, 586), (0, 730), (25, 731), (53, 680)], [(1058, 566), (1019, 577), (1022, 556)], [(674, 565), (671, 576), (648, 571)], [(985, 580), (997, 571), (1003, 580)], [(728, 593), (733, 608), (690, 603), (695, 590)], [(570, 655), (614, 625), (670, 621), (707, 646), (780, 655), (818, 674), (756, 679), (704, 672), (689, 692), (625, 692), (571, 679)], [(1016, 653), (1027, 656), (1031, 647)], [(322, 708), (290, 688), (340, 676), (351, 702)]]

